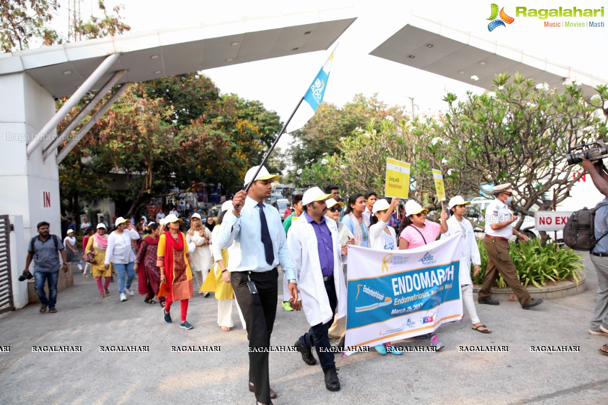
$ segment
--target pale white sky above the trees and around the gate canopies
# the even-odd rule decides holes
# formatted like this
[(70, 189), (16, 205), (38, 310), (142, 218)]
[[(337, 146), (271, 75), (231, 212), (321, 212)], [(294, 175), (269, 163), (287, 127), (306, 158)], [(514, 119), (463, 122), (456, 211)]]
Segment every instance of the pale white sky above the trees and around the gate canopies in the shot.
[[(494, 0), (500, 1), (500, 0)], [(504, 0), (503, 0), (504, 1)], [(60, 0), (62, 7), (69, 2)], [(93, 0), (81, 2), (81, 13), (90, 13)], [(538, 18), (516, 18), (508, 27), (498, 27), (488, 32), (487, 18), (492, 1), (454, 2), (443, 0), (121, 0), (121, 15), (131, 26), (131, 32), (160, 28), (188, 27), (195, 24), (216, 24), (241, 18), (263, 18), (283, 12), (310, 11), (317, 8), (352, 6), (359, 16), (339, 39), (325, 99), (328, 103), (342, 106), (355, 94), (366, 96), (378, 93), (379, 100), (390, 105), (404, 106), (410, 112), (410, 98), (415, 104), (415, 114), (434, 114), (446, 107), (441, 101), (446, 92), (463, 95), (468, 90), (483, 89), (468, 83), (427, 73), (392, 61), (368, 55), (371, 50), (401, 29), (415, 13), (426, 19), (443, 22), (455, 29), (471, 32), (480, 38), (496, 41), (551, 63), (572, 66), (582, 72), (608, 80), (608, 1), (607, 0), (516, 0), (497, 2), (499, 8), (515, 15), (515, 7), (527, 9), (555, 9), (558, 7), (599, 9), (605, 7), (603, 28), (548, 29)], [(106, 0), (106, 6), (114, 5)], [(109, 8), (109, 7), (108, 7)], [(65, 21), (66, 10), (61, 10)], [(555, 19), (556, 21), (559, 20)], [(586, 18), (580, 21), (586, 21)], [(547, 19), (546, 21), (553, 21)], [(288, 118), (297, 101), (313, 81), (325, 63), (330, 50), (285, 56), (272, 60), (237, 64), (205, 70), (223, 93), (235, 93), (250, 100), (260, 100), (264, 106), (276, 111), (283, 120)], [(474, 74), (474, 72), (471, 72)], [(468, 75), (468, 73), (467, 73)], [(288, 140), (287, 140), (288, 141)], [(285, 145), (285, 141), (282, 140)], [(280, 144), (281, 145), (281, 144)]]

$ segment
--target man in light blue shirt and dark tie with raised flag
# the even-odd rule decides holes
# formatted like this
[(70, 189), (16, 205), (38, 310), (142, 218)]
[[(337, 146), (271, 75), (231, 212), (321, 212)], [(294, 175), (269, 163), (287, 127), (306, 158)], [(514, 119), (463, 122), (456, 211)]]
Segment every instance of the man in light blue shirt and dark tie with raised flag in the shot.
[[(270, 347), (272, 327), (277, 313), (279, 264), (285, 277), (288, 278), (289, 301), (295, 305), (298, 300), (294, 265), (286, 245), (280, 216), (274, 208), (264, 204), (264, 198), (269, 197), (272, 190), (271, 182), (277, 180), (278, 175), (269, 174), (264, 164), (298, 112), (302, 101), (306, 101), (305, 106), (311, 107), (313, 114), (309, 114), (310, 111), (306, 111), (309, 110), (306, 107), (298, 116), (309, 114), (308, 119), (313, 117), (317, 107), (322, 103), (334, 52), (336, 52), (335, 48), (278, 133), (260, 165), (247, 171), (244, 179), (245, 189), (238, 191), (233, 197), (234, 209), (226, 213), (223, 222), (225, 226), (220, 230), (219, 240), (214, 241), (221, 249), (229, 248), (230, 282), (247, 324), (249, 390), (255, 392), (256, 404), (271, 404), (271, 399), (276, 397), (274, 391), (270, 389), (266, 349)], [(303, 121), (302, 126), (306, 121)], [(299, 128), (301, 126), (293, 129)]]

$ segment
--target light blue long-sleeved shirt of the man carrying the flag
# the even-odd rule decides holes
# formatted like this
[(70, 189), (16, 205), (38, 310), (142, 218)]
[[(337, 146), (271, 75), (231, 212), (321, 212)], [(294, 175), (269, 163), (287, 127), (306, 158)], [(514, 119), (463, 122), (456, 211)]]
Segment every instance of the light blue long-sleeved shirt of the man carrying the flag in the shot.
[[(249, 196), (245, 199), (241, 216), (236, 217), (232, 211), (224, 215), (219, 230), (217, 248), (228, 249), (230, 264), (228, 271), (268, 271), (281, 265), (287, 279), (295, 279), (294, 263), (286, 244), (285, 229), (281, 216), (272, 205), (264, 204), (264, 215), (272, 240), (274, 261), (266, 263), (264, 243), (261, 237), (260, 208), (257, 201)], [(232, 231), (231, 231), (232, 230)]]

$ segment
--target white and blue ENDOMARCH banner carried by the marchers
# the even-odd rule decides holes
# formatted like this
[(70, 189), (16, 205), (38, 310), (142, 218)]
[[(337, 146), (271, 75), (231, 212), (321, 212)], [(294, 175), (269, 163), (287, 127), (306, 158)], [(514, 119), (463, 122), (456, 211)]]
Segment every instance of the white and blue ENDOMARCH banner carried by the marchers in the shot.
[(455, 234), (410, 250), (349, 247), (345, 346), (420, 336), (460, 319), (462, 240)]

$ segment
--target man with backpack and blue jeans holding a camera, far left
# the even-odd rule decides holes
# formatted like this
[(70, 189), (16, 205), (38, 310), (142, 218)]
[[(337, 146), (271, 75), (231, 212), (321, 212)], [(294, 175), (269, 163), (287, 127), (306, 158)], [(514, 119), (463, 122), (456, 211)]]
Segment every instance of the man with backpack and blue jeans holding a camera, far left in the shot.
[[(66, 249), (61, 243), (61, 239), (57, 235), (50, 235), (50, 226), (48, 222), (40, 222), (36, 226), (38, 228), (38, 236), (30, 239), (27, 246), (26, 270), (19, 277), (19, 281), (24, 281), (26, 278), (31, 279), (29, 267), (34, 260), (34, 291), (40, 298), (40, 312), (46, 312), (49, 308), (49, 313), (57, 312), (55, 304), (57, 303), (57, 280), (59, 279), (59, 270), (67, 272), (67, 255)], [(63, 265), (59, 263), (59, 254), (63, 259)], [(49, 285), (49, 299), (46, 298), (44, 291), (44, 282)]]

